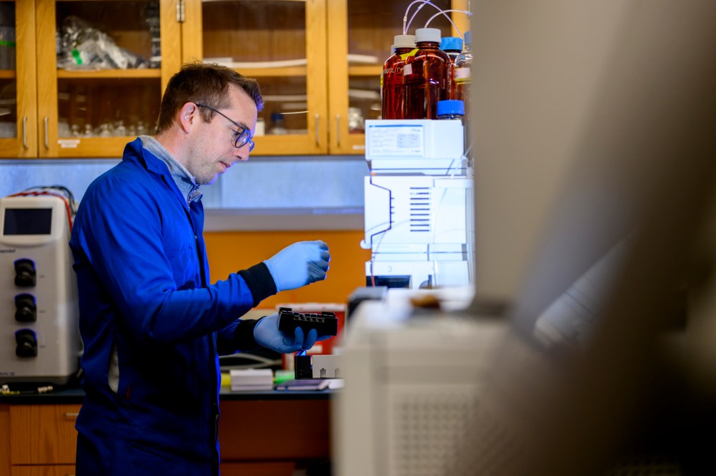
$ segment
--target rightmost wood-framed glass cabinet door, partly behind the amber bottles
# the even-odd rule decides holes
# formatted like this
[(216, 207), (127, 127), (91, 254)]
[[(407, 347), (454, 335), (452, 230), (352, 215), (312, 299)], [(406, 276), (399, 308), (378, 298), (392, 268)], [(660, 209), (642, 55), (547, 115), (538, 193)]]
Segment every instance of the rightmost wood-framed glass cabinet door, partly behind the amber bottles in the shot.
[[(468, 0), (432, 0), (440, 9), (468, 9)], [(412, 5), (411, 5), (412, 4)], [(403, 33), (406, 9), (407, 34), (415, 29), (438, 28), (443, 37), (458, 36), (468, 29), (465, 14), (448, 13), (455, 26), (430, 4), (411, 1), (331, 0), (329, 18), (329, 130), (332, 153), (363, 154), (364, 121), (381, 114), (380, 75), (383, 63), (392, 54), (395, 35)], [(418, 9), (422, 5), (422, 8)], [(415, 16), (413, 16), (415, 14)], [(434, 19), (431, 19), (432, 16)], [(333, 67), (334, 66), (334, 67)]]

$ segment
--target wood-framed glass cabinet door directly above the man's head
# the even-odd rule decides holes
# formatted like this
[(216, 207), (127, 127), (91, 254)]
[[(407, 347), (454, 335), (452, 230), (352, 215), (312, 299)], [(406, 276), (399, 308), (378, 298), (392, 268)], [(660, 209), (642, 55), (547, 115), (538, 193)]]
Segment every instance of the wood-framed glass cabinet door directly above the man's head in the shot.
[(183, 57), (261, 85), (252, 155), (326, 153), (325, 39), (326, 0), (203, 0), (187, 6)]

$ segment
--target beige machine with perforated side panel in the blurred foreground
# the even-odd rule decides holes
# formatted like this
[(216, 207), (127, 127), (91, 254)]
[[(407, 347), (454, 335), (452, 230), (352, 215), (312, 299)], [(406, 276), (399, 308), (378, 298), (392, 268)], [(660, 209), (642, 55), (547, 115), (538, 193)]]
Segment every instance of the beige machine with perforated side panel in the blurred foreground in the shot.
[(504, 321), (412, 309), (436, 295), (463, 309), (471, 287), (391, 288), (351, 316), (340, 354), (345, 387), (334, 397), (334, 456), (340, 476), (438, 476), (470, 433)]

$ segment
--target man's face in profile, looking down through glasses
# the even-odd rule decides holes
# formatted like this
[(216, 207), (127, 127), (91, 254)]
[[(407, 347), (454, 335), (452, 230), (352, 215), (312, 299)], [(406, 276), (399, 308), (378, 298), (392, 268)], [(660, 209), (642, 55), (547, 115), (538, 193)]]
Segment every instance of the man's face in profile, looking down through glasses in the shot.
[[(256, 103), (242, 89), (229, 87), (230, 107), (218, 111), (231, 118), (239, 125), (251, 130), (251, 137), (256, 130)], [(198, 107), (198, 109), (201, 109)], [(196, 111), (200, 113), (199, 110)], [(221, 114), (214, 113), (211, 122), (198, 120), (195, 140), (191, 141), (190, 151), (185, 166), (195, 176), (196, 183), (208, 185), (214, 183), (218, 174), (226, 172), (238, 160), (248, 160), (249, 145), (236, 148), (236, 137), (241, 133), (231, 120)]]

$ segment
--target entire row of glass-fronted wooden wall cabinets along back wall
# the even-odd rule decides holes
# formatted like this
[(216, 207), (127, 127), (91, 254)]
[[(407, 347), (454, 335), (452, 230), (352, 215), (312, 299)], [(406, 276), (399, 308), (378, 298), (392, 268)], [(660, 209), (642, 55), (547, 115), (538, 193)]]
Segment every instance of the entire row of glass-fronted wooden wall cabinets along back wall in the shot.
[[(432, 3), (465, 9), (468, 1)], [(409, 4), (0, 0), (16, 34), (14, 65), (4, 66), (0, 56), (0, 157), (120, 157), (128, 141), (153, 133), (169, 78), (197, 59), (227, 64), (261, 84), (266, 105), (258, 129), (265, 135), (258, 132), (253, 155), (362, 154), (363, 122), (379, 117), (382, 64)], [(437, 13), (425, 5), (410, 31)], [(468, 29), (467, 16), (451, 15), (460, 31)], [(457, 34), (442, 15), (430, 26)], [(105, 34), (115, 51), (148, 67), (87, 67), (92, 42), (64, 41), (82, 31)]]

